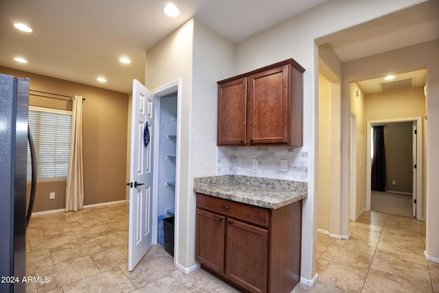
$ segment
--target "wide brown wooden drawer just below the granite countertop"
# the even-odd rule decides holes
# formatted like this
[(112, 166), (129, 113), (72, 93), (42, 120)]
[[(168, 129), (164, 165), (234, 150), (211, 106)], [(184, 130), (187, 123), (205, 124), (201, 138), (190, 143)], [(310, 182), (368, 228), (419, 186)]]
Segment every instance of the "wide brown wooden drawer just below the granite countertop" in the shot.
[(197, 207), (237, 218), (246, 222), (268, 227), (268, 209), (254, 207), (232, 200), (224, 200), (204, 194), (197, 194)]

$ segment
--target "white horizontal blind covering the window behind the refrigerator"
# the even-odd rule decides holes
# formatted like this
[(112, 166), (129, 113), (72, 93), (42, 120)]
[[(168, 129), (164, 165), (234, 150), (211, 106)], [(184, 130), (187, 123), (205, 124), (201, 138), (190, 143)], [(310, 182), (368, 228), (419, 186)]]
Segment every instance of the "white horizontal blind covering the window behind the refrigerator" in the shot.
[[(67, 178), (69, 169), (71, 112), (29, 107), (28, 123), (34, 139), (37, 180)], [(31, 161), (27, 146), (27, 180), (31, 180)]]

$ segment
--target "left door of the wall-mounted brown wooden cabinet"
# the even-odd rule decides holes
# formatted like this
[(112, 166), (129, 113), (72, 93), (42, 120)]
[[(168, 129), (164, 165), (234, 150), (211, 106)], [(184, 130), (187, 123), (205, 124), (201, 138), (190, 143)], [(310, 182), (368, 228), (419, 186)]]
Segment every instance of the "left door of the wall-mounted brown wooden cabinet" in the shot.
[(246, 144), (247, 79), (218, 85), (217, 145)]

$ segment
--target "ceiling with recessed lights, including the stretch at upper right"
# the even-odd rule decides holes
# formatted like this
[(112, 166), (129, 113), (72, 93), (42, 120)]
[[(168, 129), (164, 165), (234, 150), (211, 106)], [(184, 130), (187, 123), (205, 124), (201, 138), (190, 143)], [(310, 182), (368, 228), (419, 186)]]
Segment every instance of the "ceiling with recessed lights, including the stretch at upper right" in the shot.
[[(161, 12), (166, 0), (0, 0), (0, 66), (130, 93), (132, 79), (144, 79), (145, 51), (192, 17), (237, 43), (326, 1), (174, 0), (182, 13), (171, 19)], [(439, 1), (429, 2), (329, 45), (345, 62), (439, 38)], [(16, 22), (34, 32), (16, 30)], [(132, 62), (121, 64), (122, 56)]]

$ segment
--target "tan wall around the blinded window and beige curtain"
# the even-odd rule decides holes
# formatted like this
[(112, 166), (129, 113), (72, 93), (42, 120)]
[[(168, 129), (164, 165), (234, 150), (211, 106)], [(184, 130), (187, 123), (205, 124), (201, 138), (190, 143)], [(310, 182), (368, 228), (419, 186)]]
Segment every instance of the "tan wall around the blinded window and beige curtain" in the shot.
[[(86, 98), (82, 109), (84, 205), (125, 200), (128, 95), (5, 67), (0, 67), (0, 73), (30, 78), (30, 89)], [(29, 104), (71, 110), (71, 102), (32, 95)], [(65, 180), (38, 183), (34, 211), (64, 209), (65, 184)], [(49, 200), (50, 192), (56, 192), (55, 200)]]

